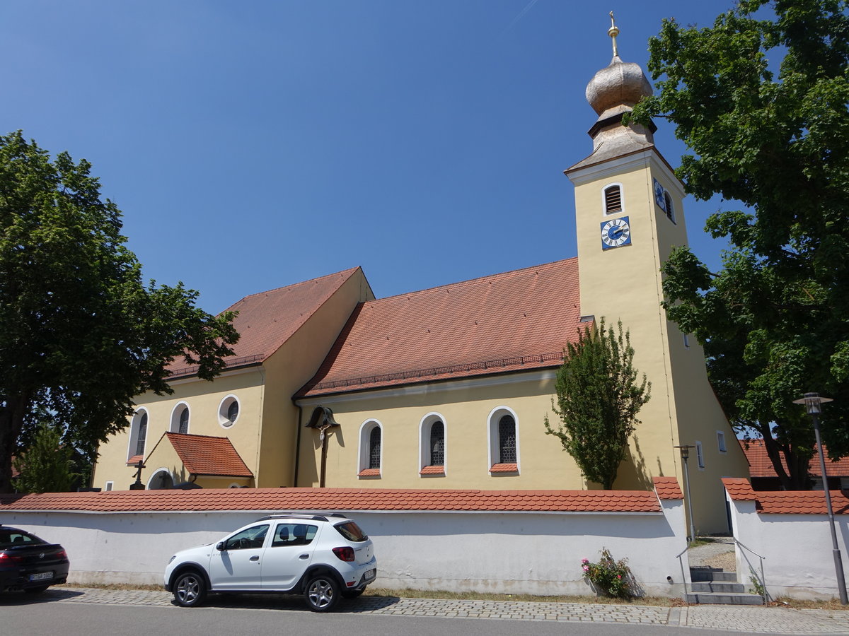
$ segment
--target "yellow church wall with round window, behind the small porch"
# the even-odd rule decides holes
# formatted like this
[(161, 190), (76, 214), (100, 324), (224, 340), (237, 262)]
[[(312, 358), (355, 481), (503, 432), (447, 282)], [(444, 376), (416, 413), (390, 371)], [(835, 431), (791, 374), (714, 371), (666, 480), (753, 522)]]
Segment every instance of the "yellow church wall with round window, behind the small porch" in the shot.
[[(137, 399), (138, 408), (148, 411), (148, 431), (145, 455), (148, 455), (162, 434), (169, 430), (171, 414), (177, 404), (188, 404), (188, 432), (197, 435), (211, 435), (230, 438), (233, 447), (245, 464), (256, 475), (259, 451), (259, 425), (262, 398), (265, 393), (265, 378), (259, 368), (246, 371), (230, 371), (216, 377), (212, 382), (188, 379), (174, 382), (171, 395), (145, 393)], [(239, 399), (239, 417), (231, 427), (222, 427), (218, 410), (228, 395)], [(130, 442), (130, 419), (127, 427), (112, 435), (106, 444), (101, 444), (97, 464), (94, 467), (93, 486), (105, 488), (108, 481), (114, 481), (115, 490), (127, 490), (132, 483), (135, 469), (127, 466), (128, 446)], [(163, 444), (160, 444), (160, 447)], [(167, 444), (170, 447), (170, 444)], [(147, 483), (150, 471), (160, 467), (146, 464), (142, 471), (142, 481)], [(175, 483), (177, 483), (175, 479)]]

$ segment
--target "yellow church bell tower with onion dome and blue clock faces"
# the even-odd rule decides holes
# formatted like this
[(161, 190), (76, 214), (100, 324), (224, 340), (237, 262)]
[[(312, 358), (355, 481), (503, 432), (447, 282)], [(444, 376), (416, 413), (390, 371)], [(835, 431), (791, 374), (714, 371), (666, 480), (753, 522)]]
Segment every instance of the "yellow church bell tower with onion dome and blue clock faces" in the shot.
[(675, 447), (698, 443), (691, 453), (700, 453), (697, 466), (689, 466), (694, 525), (726, 532), (720, 477), (747, 474), (745, 457), (707, 381), (699, 343), (661, 307), (661, 265), (673, 247), (687, 245), (683, 185), (655, 148), (654, 124), (622, 126), (622, 116), (652, 90), (639, 65), (619, 57), (613, 14), (610, 21), (613, 59), (586, 91), (598, 115), (589, 129), (593, 152), (565, 174), (575, 186), (581, 314), (597, 324), (604, 317), (607, 326), (622, 321), (634, 365), (652, 383), (616, 488), (642, 487), (661, 475), (678, 477), (683, 487)]

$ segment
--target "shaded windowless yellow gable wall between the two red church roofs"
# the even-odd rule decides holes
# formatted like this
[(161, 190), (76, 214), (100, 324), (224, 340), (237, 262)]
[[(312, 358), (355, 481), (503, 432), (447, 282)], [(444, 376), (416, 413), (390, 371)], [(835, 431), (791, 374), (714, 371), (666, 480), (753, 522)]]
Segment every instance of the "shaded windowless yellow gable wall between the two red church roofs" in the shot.
[(266, 393), (262, 411), (258, 488), (293, 485), (298, 410), (292, 396), (318, 371), (357, 303), (372, 299), (374, 293), (358, 269), (266, 360), (273, 390)]

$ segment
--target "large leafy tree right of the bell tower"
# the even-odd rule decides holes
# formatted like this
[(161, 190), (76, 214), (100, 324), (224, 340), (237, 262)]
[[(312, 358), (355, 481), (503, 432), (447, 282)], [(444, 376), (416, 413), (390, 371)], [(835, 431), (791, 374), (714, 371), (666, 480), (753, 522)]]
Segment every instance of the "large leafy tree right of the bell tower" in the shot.
[(814, 452), (792, 404), (802, 393), (835, 398), (825, 444), (849, 453), (846, 4), (741, 0), (708, 28), (665, 20), (649, 42), (660, 91), (633, 113), (677, 126), (693, 151), (677, 171), (688, 192), (741, 204), (707, 221), (730, 244), (721, 271), (687, 248), (666, 261), (665, 306), (704, 344), (728, 417), (764, 438), (784, 488), (807, 487)]

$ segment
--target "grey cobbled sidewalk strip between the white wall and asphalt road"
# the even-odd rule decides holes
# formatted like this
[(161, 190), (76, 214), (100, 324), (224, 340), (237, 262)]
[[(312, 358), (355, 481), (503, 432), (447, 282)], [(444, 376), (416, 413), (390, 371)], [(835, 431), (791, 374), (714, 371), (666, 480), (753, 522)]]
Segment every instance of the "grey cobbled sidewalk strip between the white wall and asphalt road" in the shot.
[[(44, 594), (4, 594), (3, 605), (103, 603), (109, 605), (171, 605), (171, 594), (154, 590), (51, 588)], [(308, 611), (295, 596), (244, 594), (211, 596), (210, 607), (267, 611)], [(396, 599), (363, 596), (340, 604), (340, 612), (393, 616), (450, 616), (501, 618), (514, 621), (618, 622), (643, 625), (722, 629), (751, 633), (849, 634), (849, 611), (794, 610), (742, 605), (589, 605), (581, 603), (525, 603), (493, 600)]]

